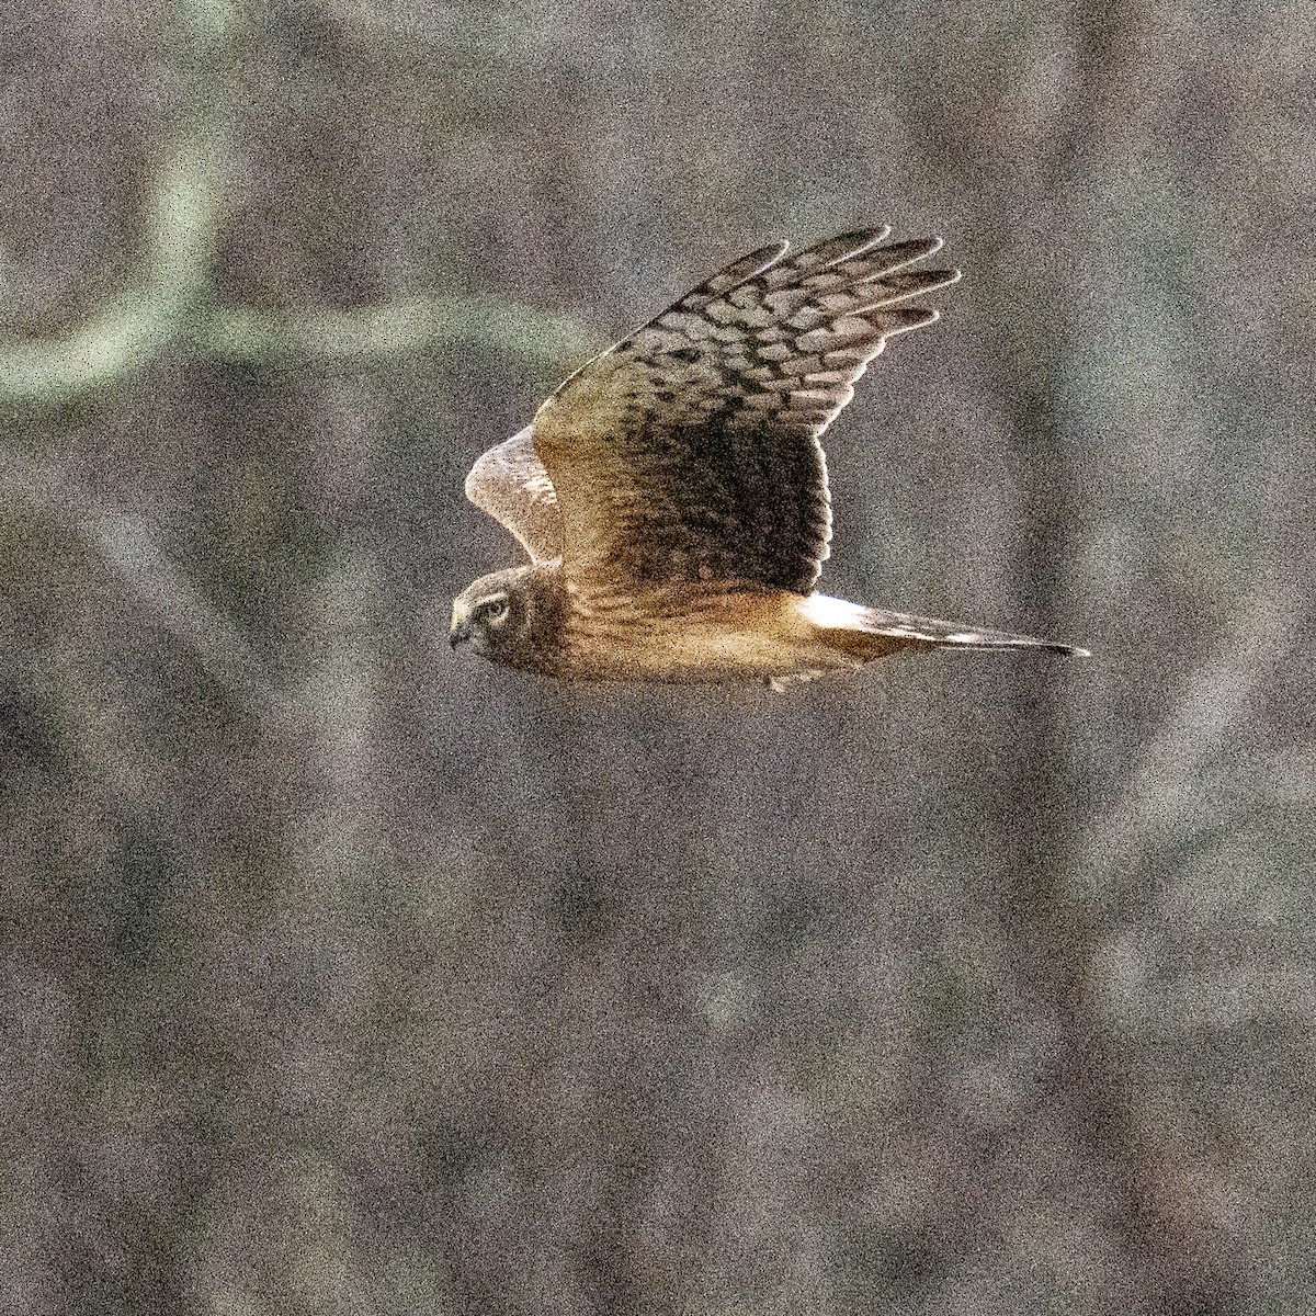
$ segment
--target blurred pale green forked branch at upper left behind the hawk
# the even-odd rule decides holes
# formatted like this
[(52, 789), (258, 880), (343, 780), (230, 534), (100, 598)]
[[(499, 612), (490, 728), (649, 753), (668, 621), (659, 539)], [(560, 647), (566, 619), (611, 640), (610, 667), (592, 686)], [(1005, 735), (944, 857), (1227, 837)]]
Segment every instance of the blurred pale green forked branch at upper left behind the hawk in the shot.
[(0, 404), (59, 407), (116, 383), (170, 350), (274, 366), (374, 359), (478, 343), (545, 365), (583, 355), (591, 336), (566, 315), (494, 296), (440, 292), (351, 311), (288, 313), (217, 304), (215, 257), (230, 195), (230, 5), (179, 0), (179, 63), (192, 93), (149, 188), (139, 275), (80, 328), (0, 340)]

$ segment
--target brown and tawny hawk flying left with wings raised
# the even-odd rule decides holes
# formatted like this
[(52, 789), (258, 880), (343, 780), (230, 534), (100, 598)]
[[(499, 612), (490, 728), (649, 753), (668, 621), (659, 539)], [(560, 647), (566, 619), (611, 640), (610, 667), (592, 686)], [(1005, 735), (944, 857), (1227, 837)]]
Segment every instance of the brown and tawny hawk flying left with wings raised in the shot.
[(820, 436), (912, 304), (959, 278), (888, 228), (720, 270), (558, 387), (466, 478), (529, 563), (453, 604), (450, 641), (572, 680), (782, 688), (900, 649), (1037, 649), (1004, 630), (816, 594), (832, 536)]

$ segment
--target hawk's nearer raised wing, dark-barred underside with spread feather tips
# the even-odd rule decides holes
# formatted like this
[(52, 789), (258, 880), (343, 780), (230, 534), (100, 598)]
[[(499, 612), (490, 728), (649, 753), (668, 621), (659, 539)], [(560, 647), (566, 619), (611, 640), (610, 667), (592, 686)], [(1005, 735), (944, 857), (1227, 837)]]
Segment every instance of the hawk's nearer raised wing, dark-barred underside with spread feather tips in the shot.
[(940, 238), (888, 233), (744, 257), (540, 408), (571, 576), (809, 592), (832, 533), (819, 436), (888, 338), (937, 318), (904, 303), (959, 278), (907, 268)]

